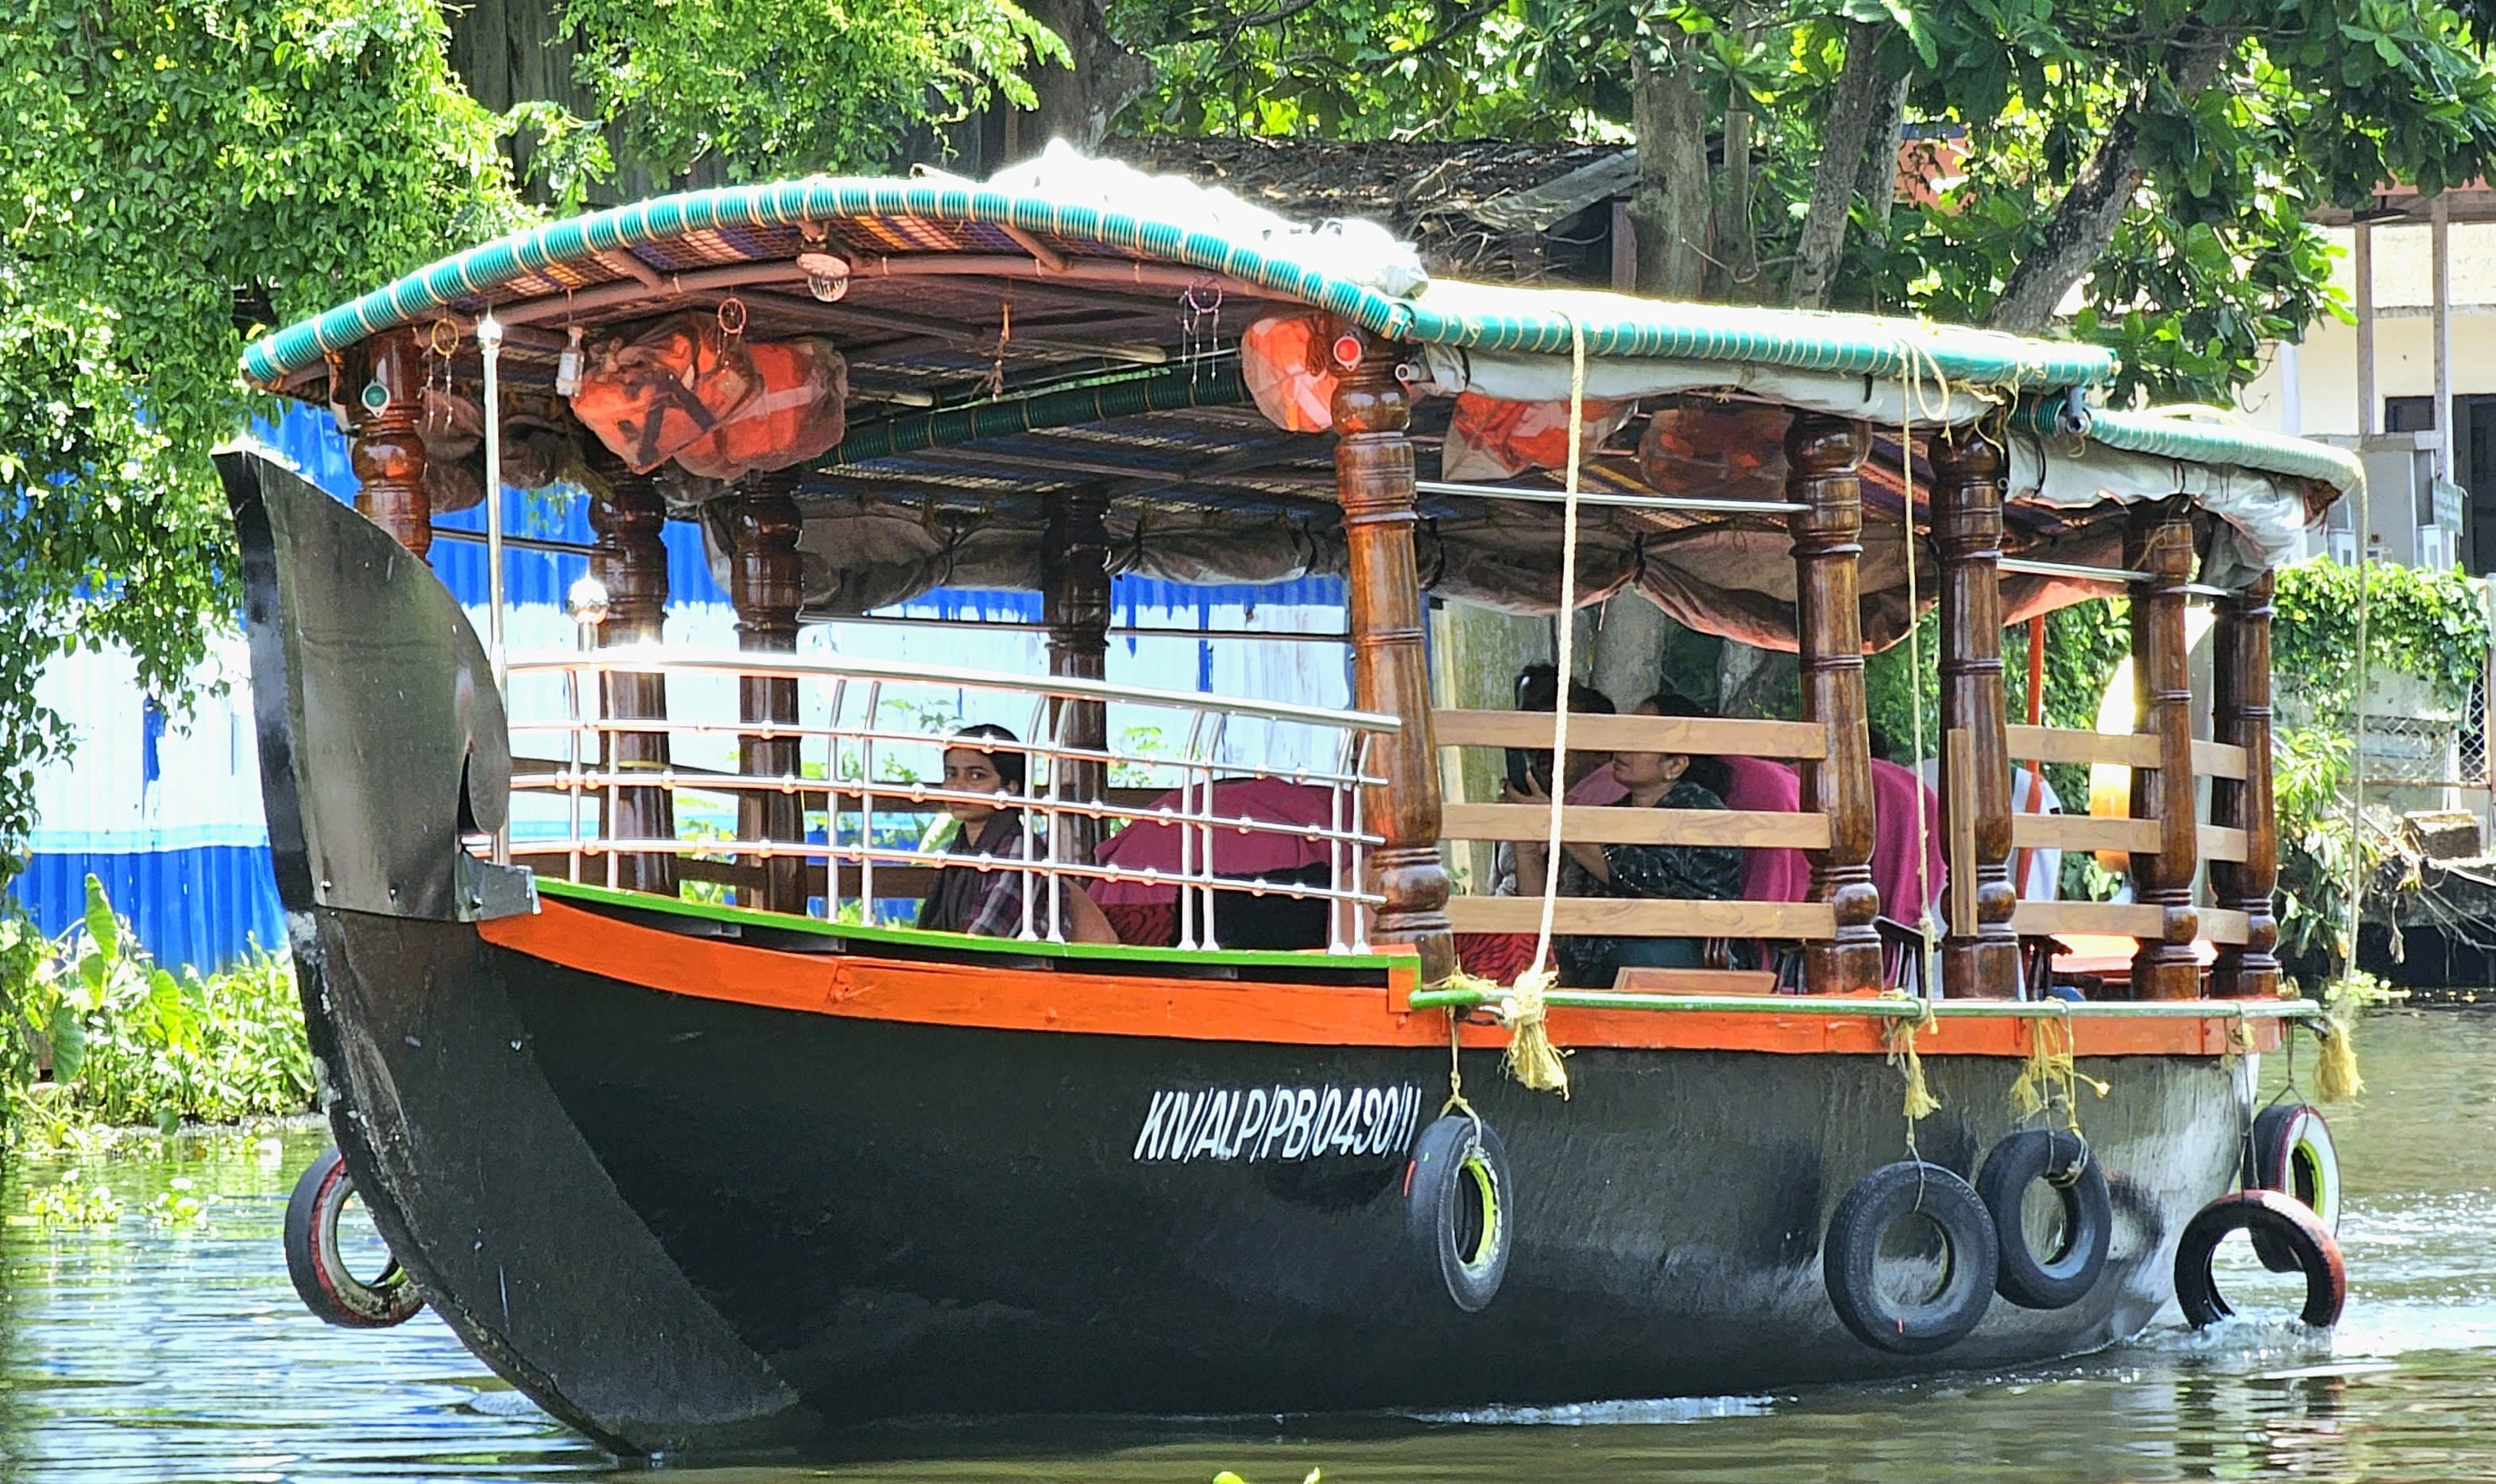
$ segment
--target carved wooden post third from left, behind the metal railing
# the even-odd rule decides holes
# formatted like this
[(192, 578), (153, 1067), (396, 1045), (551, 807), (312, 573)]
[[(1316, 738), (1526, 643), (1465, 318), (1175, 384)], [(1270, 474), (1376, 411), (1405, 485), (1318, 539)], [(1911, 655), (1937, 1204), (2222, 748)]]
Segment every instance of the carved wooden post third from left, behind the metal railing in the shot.
[[(736, 604), (736, 648), (761, 653), (796, 651), (796, 606), (804, 599), (804, 571), (796, 554), (799, 514), (789, 499), (791, 474), (746, 474), (736, 496), (736, 569), (729, 601)], [(764, 726), (796, 726), (796, 681), (736, 681), (739, 718)], [(749, 778), (796, 778), (796, 736), (746, 733), (736, 743), (736, 771)], [(804, 841), (806, 808), (791, 783), (786, 791), (741, 791), (736, 796), (736, 838)], [(796, 855), (761, 860), (761, 900), (749, 903), (774, 913), (806, 910), (806, 863)], [(831, 890), (826, 880), (826, 890)]]

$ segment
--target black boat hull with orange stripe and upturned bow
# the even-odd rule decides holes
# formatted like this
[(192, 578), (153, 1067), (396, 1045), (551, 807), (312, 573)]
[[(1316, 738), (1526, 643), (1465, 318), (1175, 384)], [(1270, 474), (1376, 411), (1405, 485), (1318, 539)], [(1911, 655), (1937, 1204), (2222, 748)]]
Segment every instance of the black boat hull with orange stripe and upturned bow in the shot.
[[(509, 756), (457, 606), (285, 471), (230, 459), (227, 484), (339, 1147), (452, 1329), (609, 1447), (2037, 1362), (2142, 1329), (2177, 1232), (2231, 1185), (2246, 1062), (2219, 1055), (2224, 1018), (2124, 1033), (2169, 1055), (2082, 1062), (2112, 1085), (2084, 1110), (2117, 1205), (2097, 1289), (1994, 1302), (1902, 1359), (1847, 1334), (1820, 1277), (1837, 1200), (1909, 1150), (1862, 1018), (1797, 1003), (1800, 1040), (1732, 1015), (1685, 1045), (1670, 1018), (1585, 1020), (1565, 1102), (1508, 1082), (1475, 1030), (1463, 1082), (1513, 1160), (1515, 1247), (1463, 1312), (1405, 1237), (1405, 1150), (1450, 1090), (1445, 1020), (1400, 1008), (1408, 960), (1011, 963), (646, 900), (532, 913), (527, 880), (462, 848), (502, 818)], [(2012, 1030), (1927, 1045), (1924, 1157), (1972, 1175), (2012, 1127)]]

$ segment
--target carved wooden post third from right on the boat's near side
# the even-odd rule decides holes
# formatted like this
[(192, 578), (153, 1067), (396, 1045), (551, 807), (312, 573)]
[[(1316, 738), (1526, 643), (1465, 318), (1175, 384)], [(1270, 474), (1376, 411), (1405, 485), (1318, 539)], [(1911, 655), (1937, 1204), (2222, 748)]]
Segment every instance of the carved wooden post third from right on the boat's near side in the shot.
[(2012, 758), (2002, 731), (2002, 451), (1967, 429), (1932, 441), (1932, 534), (1942, 549), (1942, 838), (1952, 880), (1942, 993), (2009, 995), (2019, 988), (2012, 933), (2019, 893), (2009, 870)]

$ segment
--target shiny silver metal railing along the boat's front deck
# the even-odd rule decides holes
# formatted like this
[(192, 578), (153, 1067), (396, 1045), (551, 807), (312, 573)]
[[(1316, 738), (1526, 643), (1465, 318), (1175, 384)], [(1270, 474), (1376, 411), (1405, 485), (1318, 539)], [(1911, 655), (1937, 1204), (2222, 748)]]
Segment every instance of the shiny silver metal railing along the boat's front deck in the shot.
[[(661, 676), (676, 681), (669, 693), (666, 718), (609, 716), (604, 696), (612, 686), (607, 676)], [(799, 691), (799, 721), (741, 721), (739, 701), (726, 696), (726, 706), (704, 706), (686, 696), (686, 681), (734, 683), (736, 691), (751, 683), (786, 681)], [(911, 701), (919, 693), (948, 693), (963, 713), (981, 711), (996, 716), (1013, 703), (1028, 703), (1018, 713), (1023, 726), (1018, 741), (951, 741), (941, 731), (909, 731), (881, 718), (894, 708), (926, 711)], [(557, 651), (512, 656), (509, 661), (509, 733), (514, 761), (514, 823), (519, 836), (514, 848), (552, 858), (562, 855), (572, 880), (584, 870), (604, 875), (607, 885), (619, 885), (619, 865), (631, 855), (719, 858), (739, 863), (804, 860), (824, 868), (824, 893), (809, 900), (826, 918), (839, 918), (844, 900), (844, 865), (856, 868), (856, 903), (866, 923), (876, 923), (876, 870), (879, 868), (976, 868), (1016, 870), (1023, 878), (1021, 903), (1026, 940), (1063, 940), (1066, 883), (1126, 883), (1158, 893), (1176, 893), (1178, 945), (1216, 948), (1216, 893), (1283, 895), (1298, 900), (1323, 900), (1328, 908), (1328, 945), (1335, 950), (1363, 950), (1368, 945), (1368, 910), (1380, 903), (1363, 890), (1365, 853), (1380, 838), (1363, 826), (1360, 788), (1383, 783), (1365, 771), (1368, 743), (1400, 728), (1393, 716), (1365, 711), (1330, 711), (1318, 706), (1288, 706), (1278, 701), (1236, 701), (1223, 696), (1196, 696), (1183, 691), (1148, 691), (1113, 686), (1108, 681), (1061, 676), (1013, 676), (976, 668), (909, 666), (894, 661), (846, 656), (796, 656), (754, 651), (674, 651), (654, 646), (619, 646), (597, 651)], [(976, 703), (973, 703), (976, 698)], [(696, 703), (689, 703), (696, 701)], [(1168, 746), (1081, 746), (1068, 741), (1071, 723), (1091, 706), (1141, 708), (1161, 716), (1178, 716), (1181, 741)], [(1101, 718), (1093, 718), (1096, 723)], [(1258, 718), (1293, 728), (1313, 728), (1325, 758), (1323, 766), (1268, 766), (1243, 758), (1226, 758), (1226, 733), (1238, 718)], [(1106, 731), (1106, 728), (1103, 728)], [(681, 758), (684, 748), (699, 751), (754, 741), (796, 743), (794, 768), (749, 773), (739, 763), (729, 768), (674, 766), (674, 763), (617, 763), (614, 738), (669, 738), (669, 758)], [(1146, 728), (1146, 736), (1163, 736)], [(559, 756), (534, 753), (527, 741), (547, 738)], [(1021, 753), (1026, 758), (1026, 783), (1013, 793), (966, 793), (916, 776), (909, 766), (914, 753), (936, 753), (948, 746), (976, 746), (993, 753)], [(1236, 751), (1236, 748), (1233, 748)], [(534, 766), (537, 771), (529, 771)], [(734, 771), (731, 771), (734, 768)], [(1176, 773), (1176, 801), (1156, 806), (1113, 803), (1078, 798), (1076, 773), (1096, 778), (1146, 778), (1156, 786)], [(1221, 783), (1246, 778), (1283, 781), (1323, 788), (1328, 796), (1325, 823), (1290, 823), (1255, 818), (1250, 813), (1226, 813), (1218, 801)], [(624, 798), (641, 791), (661, 791), (676, 801), (716, 811), (726, 803), (736, 811), (739, 798), (794, 796), (801, 831), (814, 833), (821, 818), (821, 838), (749, 838), (741, 831), (681, 833), (661, 838), (629, 838), (617, 833), (612, 821), (624, 811)], [(1133, 788), (1118, 788), (1133, 793)], [(519, 821), (522, 798), (554, 803), (554, 818), (544, 813)], [(993, 858), (963, 850), (929, 850), (926, 841), (899, 846), (879, 841), (879, 818), (886, 828), (899, 821), (921, 821), (948, 803), (996, 803), (1018, 808), (1026, 816), (1021, 853)], [(1031, 828), (1028, 821), (1041, 826)], [(1176, 868), (1133, 868), (1076, 858), (1068, 850), (1068, 821), (1096, 821), (1103, 836), (1113, 828), (1158, 826), (1176, 831)], [(854, 833), (851, 826), (854, 823)], [(549, 828), (552, 826), (552, 828)], [(1263, 880), (1241, 873), (1218, 875), (1223, 850), (1218, 838), (1265, 836), (1285, 838), (1303, 850), (1323, 848), (1325, 885), (1305, 880)], [(1228, 853), (1238, 860), (1238, 850)], [(1305, 870), (1305, 868), (1303, 868)], [(1046, 893), (1046, 898), (1041, 895)]]

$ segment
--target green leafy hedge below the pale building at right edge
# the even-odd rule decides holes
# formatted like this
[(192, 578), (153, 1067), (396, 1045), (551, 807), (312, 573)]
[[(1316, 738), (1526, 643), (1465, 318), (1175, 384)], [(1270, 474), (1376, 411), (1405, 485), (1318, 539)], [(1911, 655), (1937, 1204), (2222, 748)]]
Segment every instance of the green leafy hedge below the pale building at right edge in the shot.
[[(2369, 668), (2421, 678), (2446, 706), (2466, 703), (2491, 641), (2481, 584), (2384, 561), (2364, 571)], [(2281, 566), (2271, 609), (2281, 698), (2346, 728), (2356, 701), (2359, 569), (2321, 556)]]

